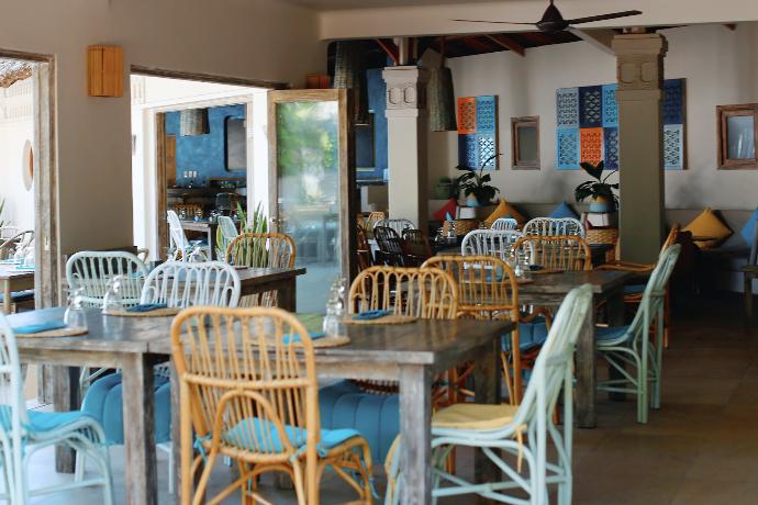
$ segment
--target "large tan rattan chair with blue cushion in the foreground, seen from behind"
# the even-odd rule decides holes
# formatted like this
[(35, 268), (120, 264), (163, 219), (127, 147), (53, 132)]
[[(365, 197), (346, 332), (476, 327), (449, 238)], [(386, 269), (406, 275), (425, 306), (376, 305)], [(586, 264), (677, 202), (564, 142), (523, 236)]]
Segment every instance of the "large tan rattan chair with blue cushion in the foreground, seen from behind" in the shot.
[[(237, 490), (243, 502), (269, 503), (257, 490), (257, 476), (267, 472), (289, 474), (300, 505), (317, 504), (326, 467), (360, 503), (371, 503), (368, 445), (356, 430), (320, 428), (313, 346), (293, 315), (189, 308), (171, 325), (171, 351), (180, 378), (182, 504), (216, 504)], [(236, 461), (239, 475), (205, 502), (220, 457)]]

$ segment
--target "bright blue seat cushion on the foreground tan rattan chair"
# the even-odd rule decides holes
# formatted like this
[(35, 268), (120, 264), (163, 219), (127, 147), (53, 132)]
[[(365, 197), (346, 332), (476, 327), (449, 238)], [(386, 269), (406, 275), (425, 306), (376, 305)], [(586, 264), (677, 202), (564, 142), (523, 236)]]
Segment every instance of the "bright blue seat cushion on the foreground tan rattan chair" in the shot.
[[(285, 425), (285, 434), (296, 449), (302, 449), (308, 444), (308, 430), (297, 426)], [(321, 440), (316, 450), (325, 456), (331, 449), (359, 437), (355, 429), (322, 429)], [(221, 438), (228, 445), (255, 452), (282, 452), (283, 444), (276, 425), (270, 420), (250, 417), (237, 423), (234, 427), (221, 434)]]

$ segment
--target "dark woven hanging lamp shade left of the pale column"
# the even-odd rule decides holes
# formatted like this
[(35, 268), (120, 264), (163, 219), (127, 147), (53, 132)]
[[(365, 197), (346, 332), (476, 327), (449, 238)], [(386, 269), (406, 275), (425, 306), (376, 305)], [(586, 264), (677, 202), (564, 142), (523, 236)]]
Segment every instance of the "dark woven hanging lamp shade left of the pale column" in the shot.
[(334, 88), (353, 90), (353, 122), (369, 124), (366, 52), (363, 41), (337, 41), (334, 63)]

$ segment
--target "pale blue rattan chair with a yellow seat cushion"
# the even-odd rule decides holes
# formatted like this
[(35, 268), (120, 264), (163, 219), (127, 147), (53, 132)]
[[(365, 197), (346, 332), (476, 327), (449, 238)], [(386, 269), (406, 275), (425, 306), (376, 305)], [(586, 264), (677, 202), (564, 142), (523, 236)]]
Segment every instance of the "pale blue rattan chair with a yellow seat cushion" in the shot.
[[(532, 372), (521, 405), (459, 403), (437, 412), (432, 418), (433, 496), (479, 494), (512, 504), (548, 503), (547, 486), (558, 485), (558, 503), (571, 503), (571, 448), (573, 428), (571, 366), (573, 349), (588, 311), (592, 310), (592, 288), (572, 290), (558, 310), (547, 341)], [(564, 396), (564, 426), (554, 423), (558, 397)], [(387, 505), (400, 503), (404, 483), (398, 446), (388, 457)], [(555, 457), (548, 458), (553, 445)], [(456, 446), (481, 450), (502, 471), (500, 482), (472, 483), (445, 471), (448, 454)], [(501, 453), (517, 457), (516, 468)], [(521, 464), (527, 467), (522, 471)], [(528, 497), (521, 495), (526, 493)]]

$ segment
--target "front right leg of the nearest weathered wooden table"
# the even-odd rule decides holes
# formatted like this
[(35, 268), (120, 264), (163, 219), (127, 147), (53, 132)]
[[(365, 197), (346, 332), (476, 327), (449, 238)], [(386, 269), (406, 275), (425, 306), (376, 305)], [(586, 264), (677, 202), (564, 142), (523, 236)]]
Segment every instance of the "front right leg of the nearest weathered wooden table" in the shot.
[(432, 502), (432, 377), (421, 364), (400, 368), (400, 436), (403, 505)]

